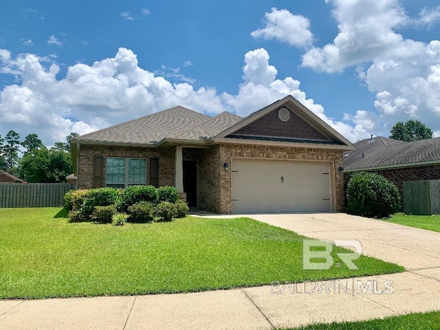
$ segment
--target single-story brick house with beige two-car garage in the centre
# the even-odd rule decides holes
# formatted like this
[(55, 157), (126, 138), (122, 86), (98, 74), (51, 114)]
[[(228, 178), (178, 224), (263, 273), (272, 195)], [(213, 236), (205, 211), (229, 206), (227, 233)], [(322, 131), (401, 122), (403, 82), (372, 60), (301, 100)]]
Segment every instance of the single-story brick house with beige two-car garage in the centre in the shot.
[(344, 209), (353, 144), (292, 96), (241, 118), (174, 107), (71, 140), (78, 188), (175, 186), (219, 213)]

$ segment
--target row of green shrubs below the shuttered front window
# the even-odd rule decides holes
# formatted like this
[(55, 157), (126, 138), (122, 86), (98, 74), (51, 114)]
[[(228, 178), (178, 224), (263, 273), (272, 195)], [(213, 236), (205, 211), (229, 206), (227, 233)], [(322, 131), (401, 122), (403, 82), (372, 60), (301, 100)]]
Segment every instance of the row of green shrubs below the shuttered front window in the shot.
[(188, 212), (186, 203), (179, 200), (177, 189), (170, 186), (70, 190), (64, 201), (72, 222), (123, 225), (126, 221), (170, 221), (185, 217)]

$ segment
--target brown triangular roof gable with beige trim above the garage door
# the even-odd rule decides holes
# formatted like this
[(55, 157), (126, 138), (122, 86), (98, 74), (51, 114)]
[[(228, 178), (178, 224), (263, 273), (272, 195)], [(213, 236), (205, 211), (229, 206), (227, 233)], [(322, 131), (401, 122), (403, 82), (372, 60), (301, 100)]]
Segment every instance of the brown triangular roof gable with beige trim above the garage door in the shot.
[[(278, 118), (278, 111), (283, 108), (287, 109), (290, 115), (286, 122)], [(286, 112), (284, 111), (284, 113)], [(216, 137), (241, 137), (254, 138), (255, 140), (264, 138), (265, 140), (286, 140), (287, 142), (292, 140), (292, 142), (353, 146), (349, 140), (290, 95), (251, 113), (241, 122), (225, 129)]]

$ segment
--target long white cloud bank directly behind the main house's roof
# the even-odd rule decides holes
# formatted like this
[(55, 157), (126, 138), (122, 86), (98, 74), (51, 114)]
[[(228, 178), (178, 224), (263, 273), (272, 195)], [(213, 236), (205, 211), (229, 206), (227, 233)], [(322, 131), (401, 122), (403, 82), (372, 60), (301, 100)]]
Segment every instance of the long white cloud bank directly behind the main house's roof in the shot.
[(19, 81), (0, 92), (1, 135), (10, 129), (23, 137), (37, 133), (50, 145), (72, 131), (87, 133), (177, 104), (210, 115), (232, 111), (245, 116), (292, 94), (342, 134), (355, 139), (353, 127), (327, 118), (324, 108), (300, 90), (298, 80), (276, 79), (276, 68), (263, 48), (245, 54), (243, 83), (236, 95), (210, 87), (195, 88), (190, 83), (170, 83), (139, 67), (137, 56), (126, 48), (93, 65), (72, 65), (61, 78), (57, 78), (59, 66), (50, 58), (12, 56), (0, 49), (0, 59), (0, 72)]

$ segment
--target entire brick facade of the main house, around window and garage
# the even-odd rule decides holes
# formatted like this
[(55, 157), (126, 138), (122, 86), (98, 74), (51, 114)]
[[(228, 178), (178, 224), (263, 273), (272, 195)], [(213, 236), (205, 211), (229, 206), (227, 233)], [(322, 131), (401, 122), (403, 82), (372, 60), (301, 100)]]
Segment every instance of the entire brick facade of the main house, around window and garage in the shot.
[[(292, 148), (285, 146), (257, 146), (245, 144), (217, 144), (211, 148), (183, 148), (183, 159), (197, 160), (199, 209), (218, 213), (232, 212), (231, 171), (223, 164), (232, 164), (236, 157), (256, 159), (296, 159), (330, 162), (332, 188), (336, 189), (333, 204), (337, 211), (344, 210), (344, 177), (338, 168), (342, 166), (343, 151), (320, 148)], [(159, 186), (174, 186), (175, 150), (154, 148), (96, 146), (82, 144), (79, 152), (78, 188), (91, 188), (95, 155), (104, 157), (159, 158)], [(149, 184), (147, 179), (147, 184)]]

